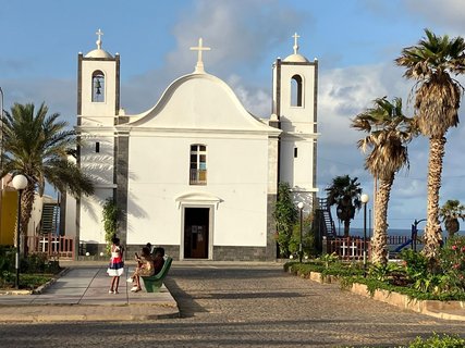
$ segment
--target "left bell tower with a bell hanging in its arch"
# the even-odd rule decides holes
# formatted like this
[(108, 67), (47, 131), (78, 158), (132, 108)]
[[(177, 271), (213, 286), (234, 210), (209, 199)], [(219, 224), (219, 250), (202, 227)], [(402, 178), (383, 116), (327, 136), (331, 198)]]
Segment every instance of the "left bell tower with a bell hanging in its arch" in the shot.
[[(101, 48), (98, 29), (97, 48), (77, 58), (77, 165), (89, 175), (94, 184), (94, 195), (81, 196), (75, 206), (76, 240), (105, 248), (105, 229), (101, 221), (107, 200), (113, 200), (122, 209), (124, 199), (119, 201), (119, 162), (121, 140), (117, 125), (120, 116), (120, 55), (114, 57)], [(120, 186), (124, 190), (124, 183)], [(71, 200), (71, 199), (70, 199)], [(89, 214), (88, 212), (93, 212)], [(70, 219), (70, 221), (72, 221)], [(98, 227), (96, 227), (98, 226)], [(96, 238), (98, 236), (98, 238)], [(125, 243), (125, 234), (119, 233)], [(77, 249), (76, 249), (77, 250)], [(88, 250), (89, 251), (89, 250)], [(102, 250), (93, 250), (100, 252)]]

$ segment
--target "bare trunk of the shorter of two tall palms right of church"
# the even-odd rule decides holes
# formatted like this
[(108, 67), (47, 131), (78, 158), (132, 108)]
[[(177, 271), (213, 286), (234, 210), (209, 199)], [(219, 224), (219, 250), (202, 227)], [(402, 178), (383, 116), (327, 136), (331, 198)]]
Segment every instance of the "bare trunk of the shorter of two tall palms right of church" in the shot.
[(388, 181), (380, 181), (376, 192), (375, 228), (371, 239), (371, 262), (388, 263), (388, 203), (394, 175)]

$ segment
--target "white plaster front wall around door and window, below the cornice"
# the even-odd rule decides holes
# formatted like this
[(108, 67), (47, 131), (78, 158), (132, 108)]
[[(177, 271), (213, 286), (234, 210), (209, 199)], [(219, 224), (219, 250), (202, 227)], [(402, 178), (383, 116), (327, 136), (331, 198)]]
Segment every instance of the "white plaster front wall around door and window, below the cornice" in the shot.
[[(207, 146), (207, 185), (189, 185), (192, 144)], [(213, 212), (217, 246), (266, 246), (268, 137), (228, 139), (179, 135), (130, 139), (127, 243), (179, 245), (176, 197), (206, 192), (222, 202)]]

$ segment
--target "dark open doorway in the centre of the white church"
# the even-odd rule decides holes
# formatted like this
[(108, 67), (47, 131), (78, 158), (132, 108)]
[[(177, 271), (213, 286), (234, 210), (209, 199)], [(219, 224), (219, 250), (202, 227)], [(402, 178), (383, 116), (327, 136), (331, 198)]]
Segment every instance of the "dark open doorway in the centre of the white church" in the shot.
[(184, 209), (184, 258), (208, 259), (209, 208)]

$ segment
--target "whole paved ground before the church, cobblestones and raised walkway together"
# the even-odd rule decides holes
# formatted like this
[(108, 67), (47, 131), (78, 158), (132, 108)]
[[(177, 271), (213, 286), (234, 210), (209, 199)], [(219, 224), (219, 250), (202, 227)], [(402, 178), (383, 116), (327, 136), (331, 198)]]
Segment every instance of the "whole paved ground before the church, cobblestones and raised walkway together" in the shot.
[[(68, 299), (61, 282), (75, 284)], [(174, 262), (160, 294), (130, 294), (122, 283), (126, 293), (110, 295), (98, 265), (72, 268), (61, 282), (28, 303), (0, 298), (2, 347), (395, 347), (433, 332), (464, 337), (464, 322), (293, 276), (278, 263)], [(34, 320), (8, 321), (27, 311)]]

